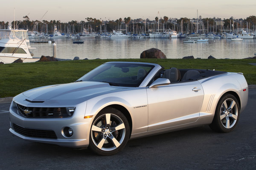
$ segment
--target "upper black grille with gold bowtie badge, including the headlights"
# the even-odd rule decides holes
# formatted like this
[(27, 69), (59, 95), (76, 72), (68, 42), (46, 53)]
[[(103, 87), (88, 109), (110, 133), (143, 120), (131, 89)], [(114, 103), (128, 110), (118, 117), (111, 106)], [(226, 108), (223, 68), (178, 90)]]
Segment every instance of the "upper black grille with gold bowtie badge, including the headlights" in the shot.
[(26, 107), (16, 103), (17, 110), (27, 118), (64, 118), (73, 115), (75, 108)]

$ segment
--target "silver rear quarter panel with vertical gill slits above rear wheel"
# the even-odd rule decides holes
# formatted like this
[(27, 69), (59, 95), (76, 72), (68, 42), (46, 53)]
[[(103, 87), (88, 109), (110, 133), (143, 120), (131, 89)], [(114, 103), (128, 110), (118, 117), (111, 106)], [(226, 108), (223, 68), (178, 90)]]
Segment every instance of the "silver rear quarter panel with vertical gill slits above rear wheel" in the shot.
[[(204, 89), (204, 101), (200, 111), (200, 118), (212, 122), (218, 101), (227, 92), (235, 92), (239, 96), (241, 111), (244, 110), (248, 100), (248, 85), (242, 74), (227, 73), (198, 80)], [(243, 91), (246, 89), (246, 91)]]

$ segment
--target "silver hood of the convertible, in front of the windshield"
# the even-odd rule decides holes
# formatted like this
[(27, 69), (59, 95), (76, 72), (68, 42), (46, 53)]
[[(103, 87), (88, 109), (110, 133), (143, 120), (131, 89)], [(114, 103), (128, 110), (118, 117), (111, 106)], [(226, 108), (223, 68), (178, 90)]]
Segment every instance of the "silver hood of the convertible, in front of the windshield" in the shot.
[(105, 82), (73, 82), (61, 85), (49, 85), (23, 92), (30, 102), (67, 101), (77, 104), (95, 96), (120, 91), (129, 87), (110, 86)]

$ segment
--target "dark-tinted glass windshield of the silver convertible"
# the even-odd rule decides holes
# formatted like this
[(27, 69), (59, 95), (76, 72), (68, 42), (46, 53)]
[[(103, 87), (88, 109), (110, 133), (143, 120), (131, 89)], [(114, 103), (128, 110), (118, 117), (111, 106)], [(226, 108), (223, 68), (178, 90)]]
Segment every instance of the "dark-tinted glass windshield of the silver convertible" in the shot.
[(108, 82), (114, 86), (138, 87), (154, 65), (140, 63), (105, 63), (78, 81)]

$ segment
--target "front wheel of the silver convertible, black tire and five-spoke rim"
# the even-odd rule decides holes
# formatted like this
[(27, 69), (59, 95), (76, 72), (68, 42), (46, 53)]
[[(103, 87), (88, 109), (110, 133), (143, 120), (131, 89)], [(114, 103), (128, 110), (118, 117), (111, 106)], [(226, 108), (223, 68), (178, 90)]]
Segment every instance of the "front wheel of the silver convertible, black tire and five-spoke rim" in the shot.
[(126, 117), (119, 110), (108, 107), (93, 120), (89, 149), (99, 155), (113, 155), (125, 147), (129, 136), (130, 126)]

